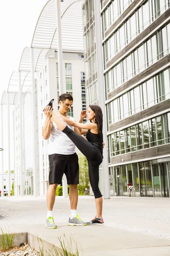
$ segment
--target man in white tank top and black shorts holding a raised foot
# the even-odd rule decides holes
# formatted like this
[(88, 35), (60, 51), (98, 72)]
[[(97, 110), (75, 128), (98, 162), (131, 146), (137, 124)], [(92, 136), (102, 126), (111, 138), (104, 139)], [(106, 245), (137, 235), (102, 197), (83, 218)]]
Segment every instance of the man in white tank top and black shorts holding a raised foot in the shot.
[[(49, 154), (49, 187), (47, 191), (47, 219), (46, 227), (53, 229), (57, 228), (53, 218), (53, 207), (56, 197), (56, 189), (58, 184), (62, 182), (62, 176), (65, 173), (67, 183), (70, 186), (70, 218), (68, 225), (86, 226), (77, 214), (78, 191), (77, 184), (79, 183), (79, 163), (76, 154), (76, 146), (74, 143), (60, 131), (57, 125), (51, 119), (51, 113), (48, 111), (52, 107), (54, 100), (51, 100), (44, 108), (46, 116), (45, 125), (42, 130), (42, 136), (45, 140), (49, 139), (48, 154)], [(63, 93), (59, 96), (59, 111), (63, 116), (68, 116), (67, 113), (73, 104), (73, 97), (69, 93)], [(83, 112), (83, 111), (82, 111)], [(73, 117), (70, 117), (73, 119)], [(82, 116), (80, 117), (82, 119)], [(80, 134), (78, 128), (68, 125), (69, 128)]]

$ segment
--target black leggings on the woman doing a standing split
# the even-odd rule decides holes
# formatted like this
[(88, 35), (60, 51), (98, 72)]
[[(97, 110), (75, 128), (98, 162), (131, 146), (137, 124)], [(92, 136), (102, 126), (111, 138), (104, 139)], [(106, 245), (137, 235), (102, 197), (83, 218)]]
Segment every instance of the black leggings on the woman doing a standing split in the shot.
[(68, 126), (66, 126), (62, 132), (68, 136), (68, 138), (87, 158), (89, 180), (91, 183), (91, 188), (94, 192), (94, 197), (102, 197), (99, 190), (99, 165), (102, 163), (103, 158), (99, 148), (85, 140), (82, 136), (76, 134)]

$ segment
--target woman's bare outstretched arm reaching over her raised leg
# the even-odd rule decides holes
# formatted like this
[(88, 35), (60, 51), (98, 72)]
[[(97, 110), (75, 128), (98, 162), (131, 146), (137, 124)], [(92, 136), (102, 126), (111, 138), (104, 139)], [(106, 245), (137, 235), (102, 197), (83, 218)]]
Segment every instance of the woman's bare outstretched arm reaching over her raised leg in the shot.
[(71, 120), (68, 117), (62, 116), (62, 114), (60, 112), (59, 113), (58, 112), (59, 111), (57, 111), (56, 115), (58, 117), (60, 117), (63, 121), (68, 123), (68, 125), (71, 125), (71, 126), (74, 126), (74, 127), (77, 127), (77, 128), (81, 128), (81, 129), (88, 129), (88, 130), (97, 129), (97, 125), (95, 123), (91, 123), (91, 122), (88, 122), (88, 123), (75, 122), (75, 121)]

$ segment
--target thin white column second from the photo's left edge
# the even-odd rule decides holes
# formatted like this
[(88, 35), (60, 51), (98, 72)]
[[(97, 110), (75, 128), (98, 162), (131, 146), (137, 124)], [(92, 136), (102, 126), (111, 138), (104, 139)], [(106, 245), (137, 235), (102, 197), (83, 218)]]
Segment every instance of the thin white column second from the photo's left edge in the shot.
[(7, 93), (7, 133), (8, 133), (8, 197), (11, 196), (11, 166), (10, 166), (10, 114), (9, 114), (9, 93)]

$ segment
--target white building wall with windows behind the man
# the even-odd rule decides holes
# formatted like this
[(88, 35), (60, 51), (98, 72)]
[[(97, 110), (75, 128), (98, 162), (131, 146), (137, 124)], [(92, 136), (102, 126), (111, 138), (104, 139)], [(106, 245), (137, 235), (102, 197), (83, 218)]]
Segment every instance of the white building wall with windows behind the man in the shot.
[[(79, 122), (80, 112), (82, 111), (82, 90), (81, 72), (84, 72), (83, 58), (79, 58), (81, 53), (63, 52), (63, 76), (72, 78), (73, 115)], [(83, 54), (82, 54), (83, 55)], [(57, 53), (55, 52), (55, 57)], [(48, 189), (48, 140), (42, 138), (42, 128), (45, 123), (45, 115), (42, 109), (50, 99), (54, 99), (54, 111), (58, 109), (57, 95), (57, 58), (49, 57), (37, 74), (37, 95), (38, 95), (38, 124), (39, 124), (39, 160), (40, 160), (40, 195), (45, 195)], [(65, 74), (65, 63), (71, 64), (71, 76)]]

